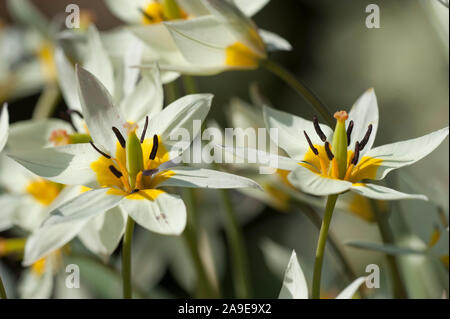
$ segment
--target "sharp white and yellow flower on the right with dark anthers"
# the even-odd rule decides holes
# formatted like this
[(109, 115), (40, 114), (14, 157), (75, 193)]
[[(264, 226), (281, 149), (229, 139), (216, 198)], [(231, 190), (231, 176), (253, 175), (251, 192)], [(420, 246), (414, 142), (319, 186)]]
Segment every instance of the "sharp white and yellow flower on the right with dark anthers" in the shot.
[[(274, 141), (289, 157), (278, 156), (276, 168), (290, 171), (289, 182), (297, 189), (316, 196), (352, 191), (379, 200), (422, 199), (367, 183), (381, 180), (390, 171), (411, 165), (431, 153), (448, 135), (448, 127), (403, 142), (372, 148), (378, 129), (378, 105), (373, 89), (366, 91), (350, 113), (337, 112), (336, 129), (264, 107), (268, 128), (278, 129)], [(274, 155), (255, 149), (235, 151), (238, 156), (257, 153), (261, 161)]]

